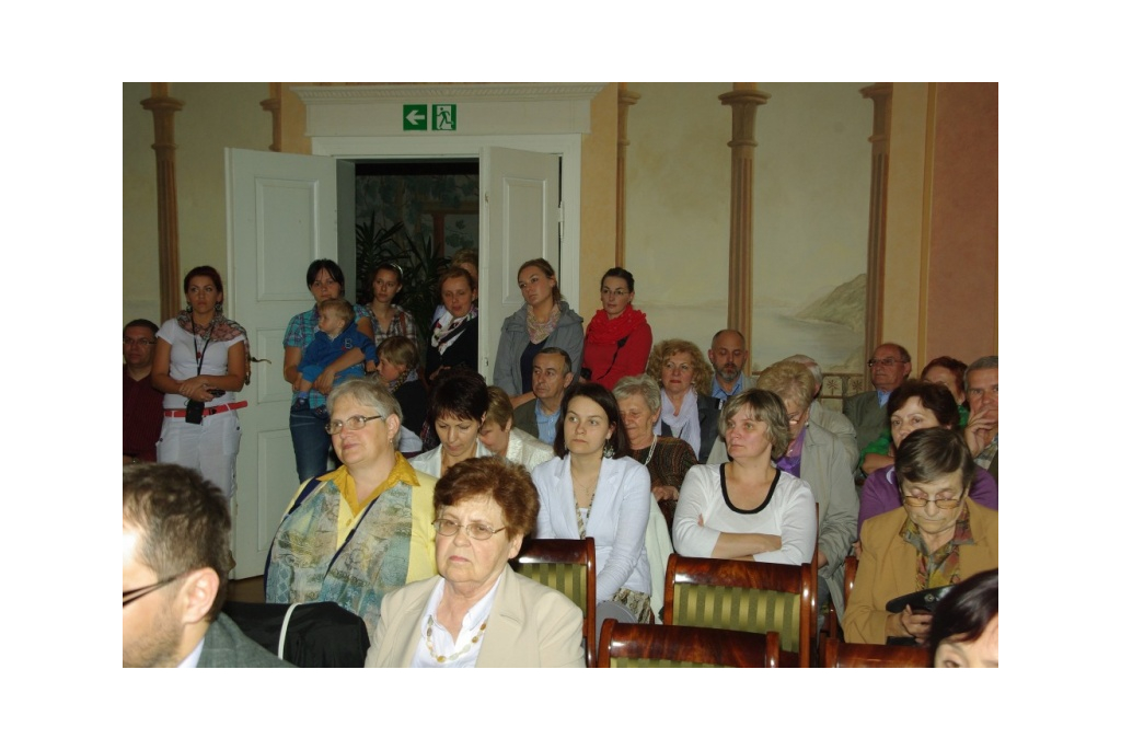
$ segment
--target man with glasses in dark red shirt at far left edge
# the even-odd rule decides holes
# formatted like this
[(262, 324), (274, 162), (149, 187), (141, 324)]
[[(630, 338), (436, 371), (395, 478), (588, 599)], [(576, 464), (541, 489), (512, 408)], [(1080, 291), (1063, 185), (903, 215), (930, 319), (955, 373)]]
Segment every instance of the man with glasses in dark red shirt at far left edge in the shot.
[(151, 387), (156, 332), (139, 318), (124, 326), (124, 463), (156, 461), (156, 441), (164, 425), (164, 395)]

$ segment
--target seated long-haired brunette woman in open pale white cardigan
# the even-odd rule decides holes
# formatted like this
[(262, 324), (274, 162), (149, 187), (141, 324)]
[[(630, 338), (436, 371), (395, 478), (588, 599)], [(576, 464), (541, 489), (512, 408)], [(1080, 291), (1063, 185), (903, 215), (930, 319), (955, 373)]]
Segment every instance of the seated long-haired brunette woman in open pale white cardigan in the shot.
[[(627, 433), (611, 391), (581, 383), (560, 405), (564, 429), (553, 448), (557, 456), (534, 470), (541, 497), (537, 536), (541, 539), (595, 539), (597, 619), (631, 618), (650, 622), (650, 562), (646, 527), (650, 519), (650, 474), (623, 455)], [(614, 459), (612, 456), (621, 456)]]

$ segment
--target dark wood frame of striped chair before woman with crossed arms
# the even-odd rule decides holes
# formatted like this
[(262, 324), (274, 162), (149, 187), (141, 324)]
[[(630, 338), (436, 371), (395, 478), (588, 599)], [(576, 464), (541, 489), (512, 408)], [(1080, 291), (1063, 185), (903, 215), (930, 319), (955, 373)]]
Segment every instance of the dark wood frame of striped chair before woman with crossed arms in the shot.
[[(740, 559), (682, 557), (676, 553), (666, 564), (666, 609), (663, 621), (674, 624), (676, 585), (730, 586), (780, 591), (799, 596), (797, 666), (808, 667), (813, 654), (813, 633), (817, 629), (817, 571), (808, 563), (781, 565)], [(782, 651), (787, 655), (787, 651)], [(789, 658), (784, 658), (789, 663)]]

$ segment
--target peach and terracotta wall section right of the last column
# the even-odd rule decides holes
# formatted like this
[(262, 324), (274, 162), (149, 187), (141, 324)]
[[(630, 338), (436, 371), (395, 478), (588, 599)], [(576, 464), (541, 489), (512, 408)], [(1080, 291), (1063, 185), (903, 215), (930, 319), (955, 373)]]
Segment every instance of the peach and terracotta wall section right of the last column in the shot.
[(998, 86), (893, 86), (883, 335), (916, 371), (998, 353)]

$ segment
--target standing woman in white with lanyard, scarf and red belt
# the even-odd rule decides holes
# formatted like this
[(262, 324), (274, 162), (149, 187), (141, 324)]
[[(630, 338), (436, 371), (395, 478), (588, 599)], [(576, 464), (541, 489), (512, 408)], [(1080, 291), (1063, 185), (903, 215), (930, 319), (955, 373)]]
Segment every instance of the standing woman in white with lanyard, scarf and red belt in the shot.
[(202, 473), (230, 498), (241, 426), (233, 393), (249, 382), (245, 330), (222, 315), (222, 277), (210, 266), (183, 283), (187, 308), (156, 334), (151, 382), (164, 397), (156, 457)]

